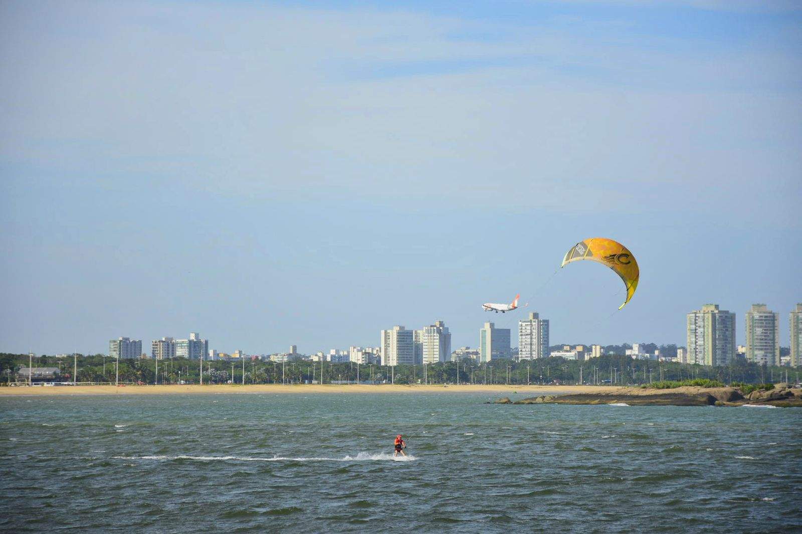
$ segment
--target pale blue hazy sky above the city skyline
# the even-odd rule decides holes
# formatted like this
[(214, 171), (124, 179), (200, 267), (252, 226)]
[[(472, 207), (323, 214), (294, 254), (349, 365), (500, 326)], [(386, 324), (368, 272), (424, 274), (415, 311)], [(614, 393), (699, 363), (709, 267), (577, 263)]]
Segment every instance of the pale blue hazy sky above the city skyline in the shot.
[[(0, 3), (0, 351), (685, 344), (802, 302), (802, 6)], [(611, 237), (609, 269), (565, 252)], [(529, 307), (482, 311), (516, 293)], [(516, 338), (515, 335), (512, 336)], [(512, 343), (513, 346), (516, 342)]]

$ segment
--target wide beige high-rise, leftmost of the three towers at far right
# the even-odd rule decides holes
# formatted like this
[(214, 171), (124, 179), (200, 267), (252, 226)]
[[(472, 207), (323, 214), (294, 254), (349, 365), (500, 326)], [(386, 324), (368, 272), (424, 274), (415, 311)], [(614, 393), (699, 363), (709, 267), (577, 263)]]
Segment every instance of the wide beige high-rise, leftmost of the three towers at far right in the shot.
[(735, 358), (735, 314), (706, 304), (687, 314), (688, 363), (723, 366)]

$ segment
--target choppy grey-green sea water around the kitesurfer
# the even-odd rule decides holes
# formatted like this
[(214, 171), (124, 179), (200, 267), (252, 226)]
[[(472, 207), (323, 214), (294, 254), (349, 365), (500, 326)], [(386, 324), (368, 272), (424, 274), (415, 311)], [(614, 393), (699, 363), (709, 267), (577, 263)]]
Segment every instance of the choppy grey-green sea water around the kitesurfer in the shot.
[(802, 410), (497, 396), (0, 398), (0, 530), (802, 529)]

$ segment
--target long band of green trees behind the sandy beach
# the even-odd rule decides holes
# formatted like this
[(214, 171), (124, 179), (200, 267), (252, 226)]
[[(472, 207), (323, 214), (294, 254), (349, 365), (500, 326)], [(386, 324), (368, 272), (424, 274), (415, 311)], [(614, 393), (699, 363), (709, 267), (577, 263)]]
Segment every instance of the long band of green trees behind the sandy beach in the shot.
[[(79, 355), (76, 382), (128, 384), (177, 384), (201, 382), (200, 363), (187, 358), (166, 360), (120, 359), (103, 354)], [(58, 367), (61, 380), (72, 382), (75, 360), (38, 356), (34, 366)], [(156, 366), (158, 364), (158, 375)], [(17, 370), (28, 366), (27, 354), (0, 354), (0, 381), (14, 382)], [(322, 370), (321, 370), (322, 367)], [(322, 374), (321, 374), (322, 372)], [(496, 359), (477, 363), (470, 358), (460, 362), (438, 362), (423, 365), (379, 366), (353, 362), (203, 362), (205, 384), (296, 384), (316, 382), (330, 384), (342, 382), (395, 383), (395, 384), (585, 384), (640, 386), (666, 380), (707, 378), (726, 384), (742, 382), (762, 384), (781, 382), (799, 383), (800, 370), (791, 367), (763, 366), (736, 359), (728, 366), (708, 367), (654, 360), (634, 360), (621, 354), (604, 354), (584, 362), (564, 358), (540, 358), (516, 362)]]

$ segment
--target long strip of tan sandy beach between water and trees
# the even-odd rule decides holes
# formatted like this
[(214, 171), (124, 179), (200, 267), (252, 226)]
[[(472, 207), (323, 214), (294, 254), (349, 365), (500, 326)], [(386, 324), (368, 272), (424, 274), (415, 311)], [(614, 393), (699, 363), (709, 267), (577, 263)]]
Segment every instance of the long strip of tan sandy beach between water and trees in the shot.
[(0, 396), (15, 395), (158, 395), (158, 394), (231, 394), (231, 393), (270, 393), (270, 394), (310, 394), (310, 393), (497, 393), (497, 394), (555, 394), (555, 393), (597, 393), (618, 390), (614, 386), (482, 386), (466, 384), (460, 386), (393, 386), (350, 385), (321, 386), (319, 384), (254, 384), (232, 386), (14, 386), (0, 387)]

